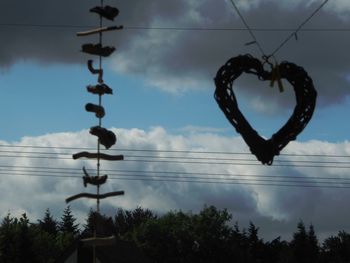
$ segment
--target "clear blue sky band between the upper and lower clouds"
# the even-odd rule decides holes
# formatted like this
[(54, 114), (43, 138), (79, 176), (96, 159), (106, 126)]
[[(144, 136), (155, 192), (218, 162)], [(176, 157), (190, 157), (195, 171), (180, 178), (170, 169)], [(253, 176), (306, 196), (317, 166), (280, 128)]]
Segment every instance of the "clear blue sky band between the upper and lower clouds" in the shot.
[[(172, 132), (184, 127), (215, 128), (225, 135), (236, 135), (219, 110), (214, 98), (214, 83), (202, 89), (179, 94), (155, 89), (142, 77), (105, 73), (114, 96), (105, 96), (106, 125), (120, 128), (149, 129), (163, 126)], [(20, 77), (19, 77), (20, 76)], [(85, 86), (92, 84), (85, 66), (19, 62), (1, 73), (3, 88), (1, 104), (3, 115), (2, 140), (18, 141), (23, 136), (79, 131), (93, 126), (94, 118), (85, 112), (84, 105), (96, 103), (96, 97), (87, 93)], [(210, 85), (211, 84), (211, 85)], [(316, 87), (317, 88), (317, 87)], [(279, 94), (275, 89), (275, 96)], [(294, 101), (292, 93), (288, 94)], [(260, 113), (249, 107), (242, 95), (239, 105), (256, 130), (265, 136), (284, 124), (289, 112)], [(326, 140), (339, 142), (348, 139), (350, 125), (344, 125), (349, 99), (339, 105), (318, 107), (314, 117), (299, 140)], [(291, 107), (289, 107), (291, 108)]]

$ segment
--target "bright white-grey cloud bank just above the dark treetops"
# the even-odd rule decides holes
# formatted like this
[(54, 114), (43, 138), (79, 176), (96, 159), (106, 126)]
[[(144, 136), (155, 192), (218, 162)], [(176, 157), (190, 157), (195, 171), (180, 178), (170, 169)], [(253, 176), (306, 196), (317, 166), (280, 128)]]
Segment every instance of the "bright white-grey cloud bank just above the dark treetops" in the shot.
[[(126, 194), (103, 200), (102, 212), (111, 214), (118, 207), (137, 206), (160, 213), (172, 209), (197, 212), (204, 204), (215, 205), (229, 209), (241, 226), (254, 222), (266, 239), (278, 235), (289, 238), (300, 219), (306, 224), (313, 223), (321, 235), (349, 228), (346, 221), (349, 211), (342, 209), (350, 197), (348, 189), (306, 187), (315, 184), (315, 177), (318, 185), (326, 186), (337, 178), (346, 178), (347, 169), (339, 168), (346, 167), (346, 158), (327, 155), (350, 155), (349, 142), (292, 142), (283, 152), (289, 155), (277, 157), (274, 166), (266, 167), (251, 155), (219, 154), (247, 152), (247, 146), (240, 137), (225, 137), (209, 129), (184, 130), (179, 134), (171, 134), (162, 127), (113, 130), (119, 142), (108, 152), (124, 154), (125, 161), (102, 163), (102, 172), (109, 174), (110, 179), (101, 192), (124, 190)], [(13, 156), (1, 158), (2, 216), (7, 212), (15, 215), (27, 212), (37, 219), (48, 207), (59, 216), (66, 205), (65, 198), (79, 192), (95, 192), (93, 187), (84, 188), (80, 178), (83, 166), (94, 174), (95, 161), (71, 159), (79, 148), (96, 147), (95, 138), (87, 130), (25, 137), (14, 144), (1, 144), (12, 146), (1, 149), (10, 151), (3, 155)], [(15, 145), (54, 148), (15, 148)], [(342, 161), (345, 163), (334, 163)], [(50, 178), (54, 175), (75, 177)], [(199, 179), (194, 177), (205, 183), (198, 183)], [(344, 180), (336, 185), (347, 186)], [(94, 202), (78, 200), (71, 206), (83, 221)]]

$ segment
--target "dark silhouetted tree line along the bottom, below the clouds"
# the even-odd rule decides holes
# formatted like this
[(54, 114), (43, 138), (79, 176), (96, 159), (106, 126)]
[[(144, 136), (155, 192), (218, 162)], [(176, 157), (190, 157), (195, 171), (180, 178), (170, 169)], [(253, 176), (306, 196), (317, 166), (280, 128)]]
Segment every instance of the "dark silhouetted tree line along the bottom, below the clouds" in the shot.
[(112, 217), (90, 211), (79, 226), (68, 206), (59, 220), (47, 209), (30, 222), (26, 214), (8, 214), (0, 225), (0, 262), (53, 263), (78, 238), (115, 235), (133, 242), (151, 262), (345, 263), (350, 262), (350, 234), (340, 231), (319, 242), (313, 225), (302, 221), (290, 241), (264, 241), (253, 223), (233, 224), (232, 215), (214, 206), (199, 213), (118, 209)]

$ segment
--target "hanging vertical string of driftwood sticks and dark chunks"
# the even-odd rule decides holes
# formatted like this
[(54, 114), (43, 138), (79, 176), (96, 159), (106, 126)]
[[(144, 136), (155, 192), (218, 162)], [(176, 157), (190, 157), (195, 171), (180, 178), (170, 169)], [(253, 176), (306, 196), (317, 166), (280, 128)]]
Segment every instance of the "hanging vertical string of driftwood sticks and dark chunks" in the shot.
[[(123, 155), (110, 155), (110, 154), (101, 152), (102, 146), (105, 147), (106, 149), (109, 149), (117, 142), (116, 135), (112, 131), (102, 126), (102, 119), (105, 116), (105, 109), (102, 106), (102, 97), (104, 95), (113, 94), (113, 90), (103, 80), (102, 57), (108, 57), (115, 51), (114, 47), (103, 46), (102, 36), (103, 36), (103, 32), (121, 30), (123, 26), (108, 26), (108, 27), (103, 26), (103, 19), (108, 19), (113, 21), (114, 18), (119, 14), (119, 10), (117, 8), (111, 7), (109, 5), (104, 5), (103, 0), (101, 0), (100, 6), (91, 8), (90, 12), (99, 15), (99, 18), (100, 18), (99, 27), (89, 31), (78, 32), (77, 36), (90, 36), (90, 35), (99, 36), (98, 44), (91, 44), (91, 43), (84, 44), (82, 45), (82, 50), (81, 50), (82, 52), (96, 56), (99, 59), (98, 68), (94, 67), (93, 60), (88, 60), (87, 62), (88, 70), (92, 74), (97, 75), (97, 84), (88, 85), (87, 92), (97, 96), (98, 103), (97, 104), (87, 103), (85, 105), (85, 110), (87, 112), (94, 113), (96, 118), (98, 119), (98, 124), (90, 128), (90, 134), (97, 137), (97, 151), (96, 152), (88, 152), (88, 151), (79, 152), (79, 153), (73, 154), (73, 159), (76, 160), (80, 158), (88, 158), (88, 159), (97, 160), (96, 175), (90, 175), (89, 172), (85, 169), (85, 167), (82, 168), (83, 174), (84, 174), (83, 176), (84, 186), (85, 187), (87, 187), (88, 185), (96, 186), (96, 194), (80, 193), (67, 198), (66, 202), (69, 203), (79, 198), (95, 199), (96, 213), (99, 214), (101, 199), (124, 195), (124, 191), (115, 191), (115, 192), (109, 192), (104, 194), (100, 193), (100, 187), (103, 184), (105, 184), (108, 179), (108, 175), (101, 175), (101, 160), (120, 161), (124, 159)], [(93, 247), (93, 258), (95, 262), (96, 246), (113, 245), (115, 243), (115, 237), (114, 236), (109, 236), (109, 237), (97, 236), (97, 232), (96, 232), (97, 222), (96, 220), (94, 220), (94, 222), (95, 222), (95, 226), (94, 226), (95, 229), (94, 229), (93, 237), (82, 239), (81, 242), (83, 246)]]

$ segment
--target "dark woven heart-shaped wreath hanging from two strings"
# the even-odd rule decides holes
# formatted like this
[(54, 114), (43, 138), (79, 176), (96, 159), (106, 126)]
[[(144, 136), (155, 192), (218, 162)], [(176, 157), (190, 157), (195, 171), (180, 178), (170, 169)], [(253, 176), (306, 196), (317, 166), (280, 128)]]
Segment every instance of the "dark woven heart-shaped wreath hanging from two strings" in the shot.
[(315, 109), (317, 92), (312, 79), (307, 72), (294, 63), (282, 62), (274, 70), (279, 71), (279, 77), (288, 80), (293, 86), (296, 96), (296, 106), (292, 116), (284, 126), (270, 139), (262, 138), (249, 124), (239, 110), (237, 99), (233, 91), (233, 82), (243, 72), (256, 75), (260, 80), (271, 80), (273, 72), (266, 71), (264, 64), (251, 55), (233, 57), (222, 66), (215, 77), (215, 100), (219, 104), (226, 118), (236, 128), (250, 151), (263, 164), (271, 165), (275, 155), (297, 135), (302, 132), (310, 121)]

